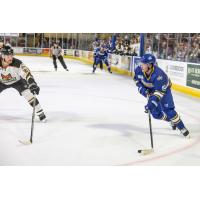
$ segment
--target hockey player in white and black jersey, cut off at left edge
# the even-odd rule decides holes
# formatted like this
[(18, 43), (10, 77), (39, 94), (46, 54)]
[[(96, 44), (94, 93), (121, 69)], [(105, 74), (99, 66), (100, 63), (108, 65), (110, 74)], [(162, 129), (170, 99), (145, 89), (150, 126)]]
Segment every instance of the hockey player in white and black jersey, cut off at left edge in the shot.
[[(34, 94), (38, 95), (40, 88), (35, 82), (30, 70), (21, 60), (13, 57), (13, 49), (10, 46), (4, 46), (1, 53), (0, 93), (5, 89), (14, 88), (33, 107)], [(46, 116), (37, 98), (35, 100), (35, 110), (40, 121), (45, 122)]]

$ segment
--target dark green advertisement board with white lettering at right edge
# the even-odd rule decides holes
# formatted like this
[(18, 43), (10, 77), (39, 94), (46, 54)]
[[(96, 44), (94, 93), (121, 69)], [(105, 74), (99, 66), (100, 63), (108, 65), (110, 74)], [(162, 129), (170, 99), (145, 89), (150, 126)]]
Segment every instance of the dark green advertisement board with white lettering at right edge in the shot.
[(200, 89), (200, 65), (187, 65), (187, 86)]

